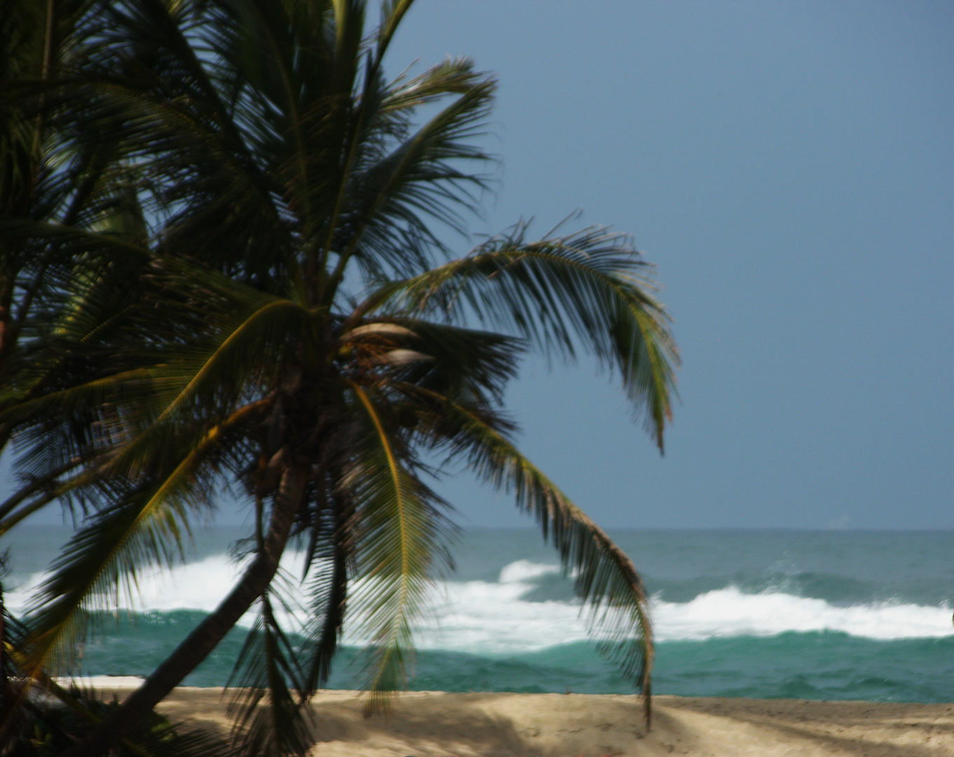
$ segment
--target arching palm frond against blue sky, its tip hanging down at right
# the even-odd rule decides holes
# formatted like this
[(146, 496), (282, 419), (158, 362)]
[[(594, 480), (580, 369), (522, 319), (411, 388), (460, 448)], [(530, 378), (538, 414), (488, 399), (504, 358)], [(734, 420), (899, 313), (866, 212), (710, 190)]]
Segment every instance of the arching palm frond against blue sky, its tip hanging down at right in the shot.
[(573, 358), (582, 347), (619, 371), (633, 412), (661, 449), (678, 357), (648, 265), (627, 236), (601, 227), (538, 242), (525, 235), (518, 225), (466, 257), (384, 284), (362, 310), (477, 317), (547, 356)]

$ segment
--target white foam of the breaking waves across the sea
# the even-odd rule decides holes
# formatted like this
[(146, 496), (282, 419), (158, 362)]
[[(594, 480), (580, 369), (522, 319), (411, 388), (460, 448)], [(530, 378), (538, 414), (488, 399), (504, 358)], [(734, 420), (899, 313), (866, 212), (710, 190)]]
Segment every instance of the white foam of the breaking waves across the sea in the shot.
[[(301, 553), (289, 553), (282, 568), (301, 576)], [(241, 563), (224, 555), (143, 576), (135, 602), (121, 607), (146, 611), (211, 611), (237, 580)], [(520, 560), (505, 566), (497, 582), (448, 582), (437, 587), (427, 623), (417, 632), (422, 648), (477, 654), (528, 652), (587, 638), (579, 607), (567, 602), (528, 602), (534, 579), (558, 572), (554, 565)], [(13, 612), (28, 604), (40, 574), (10, 591)], [(354, 586), (360, 589), (359, 586)], [(292, 604), (301, 597), (291, 597)], [(305, 604), (301, 601), (301, 604)], [(733, 636), (773, 636), (786, 631), (840, 631), (868, 639), (940, 638), (954, 634), (946, 606), (877, 603), (838, 606), (775, 589), (744, 594), (734, 586), (709, 591), (687, 603), (651, 601), (656, 640), (705, 640)], [(301, 615), (301, 613), (299, 613)], [(292, 618), (285, 618), (291, 623)], [(251, 616), (242, 620), (252, 622)], [(355, 626), (351, 626), (352, 628)], [(364, 640), (345, 628), (345, 643)]]

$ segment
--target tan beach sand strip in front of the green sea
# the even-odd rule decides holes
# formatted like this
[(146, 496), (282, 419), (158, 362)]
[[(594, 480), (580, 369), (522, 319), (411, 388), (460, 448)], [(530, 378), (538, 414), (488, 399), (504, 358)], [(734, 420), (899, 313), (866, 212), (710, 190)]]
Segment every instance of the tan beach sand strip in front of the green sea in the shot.
[[(108, 691), (104, 686), (101, 691)], [(123, 690), (117, 688), (120, 698)], [(643, 733), (637, 697), (409, 692), (363, 718), (353, 691), (314, 700), (316, 757), (940, 757), (954, 755), (954, 705), (658, 696)], [(221, 689), (179, 688), (159, 709), (227, 732)]]

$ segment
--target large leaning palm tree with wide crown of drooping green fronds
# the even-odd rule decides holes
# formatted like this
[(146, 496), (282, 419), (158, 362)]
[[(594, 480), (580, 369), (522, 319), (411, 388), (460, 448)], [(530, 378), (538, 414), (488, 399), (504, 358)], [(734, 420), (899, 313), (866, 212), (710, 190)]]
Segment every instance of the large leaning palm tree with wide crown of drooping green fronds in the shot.
[[(540, 524), (649, 716), (633, 563), (519, 452), (502, 399), (521, 354), (590, 353), (661, 450), (677, 358), (652, 269), (595, 227), (529, 240), (521, 223), (453, 256), (444, 231), (464, 233), (487, 189), (495, 83), (466, 59), (387, 79), (409, 6), (384, 2), (366, 34), (363, 0), (103, 2), (77, 21), (71, 66), (14, 92), (64, 144), (109, 155), (125, 198), (99, 226), (0, 219), (73, 261), (0, 399), (28, 481), (0, 533), (52, 501), (81, 521), (19, 668), (68, 667), (89, 610), (176, 560), (222, 486), (255, 508), (231, 592), (70, 755), (125, 736), (253, 607), (233, 676), (250, 753), (307, 749), (301, 708), (345, 618), (370, 640), (368, 706), (386, 704), (449, 563), (429, 481), (456, 463)], [(293, 538), (300, 646), (275, 612)]]

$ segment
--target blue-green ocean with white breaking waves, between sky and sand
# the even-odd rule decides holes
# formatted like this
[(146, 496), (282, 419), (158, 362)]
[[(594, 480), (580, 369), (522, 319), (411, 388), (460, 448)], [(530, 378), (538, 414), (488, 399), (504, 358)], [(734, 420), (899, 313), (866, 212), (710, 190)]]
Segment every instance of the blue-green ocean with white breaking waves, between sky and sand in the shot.
[[(244, 531), (197, 532), (187, 562), (85, 642), (82, 675), (147, 675), (224, 596)], [(653, 692), (954, 702), (954, 532), (616, 530), (650, 595)], [(21, 528), (4, 580), (22, 611), (63, 528)], [(631, 693), (596, 653), (552, 549), (531, 530), (464, 531), (417, 632), (412, 689)], [(283, 563), (296, 575), (301, 554)], [(291, 619), (288, 619), (289, 622)], [(224, 685), (244, 628), (184, 682)], [(348, 634), (329, 686), (361, 682)]]

